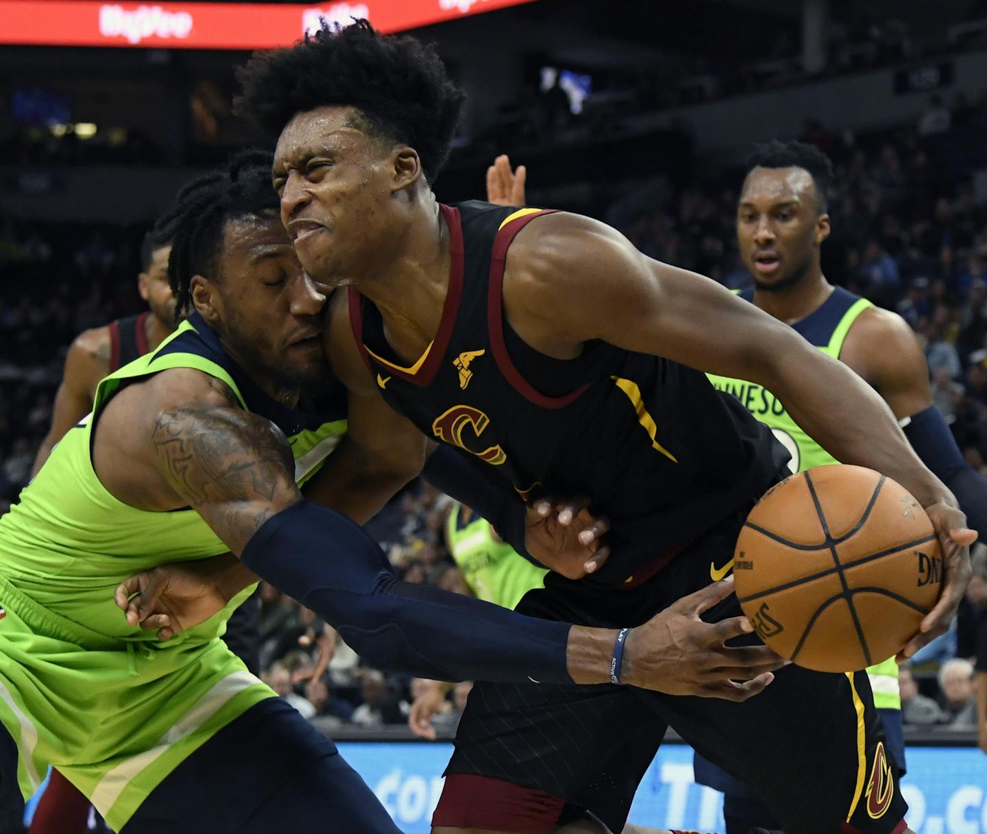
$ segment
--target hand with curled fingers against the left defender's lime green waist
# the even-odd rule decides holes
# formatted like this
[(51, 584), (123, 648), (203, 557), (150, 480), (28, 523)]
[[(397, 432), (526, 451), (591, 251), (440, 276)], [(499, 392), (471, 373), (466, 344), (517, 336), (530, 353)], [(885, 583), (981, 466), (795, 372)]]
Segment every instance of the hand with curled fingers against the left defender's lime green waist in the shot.
[(130, 626), (170, 640), (221, 611), (227, 599), (215, 581), (211, 560), (162, 565), (116, 586), (114, 600)]

